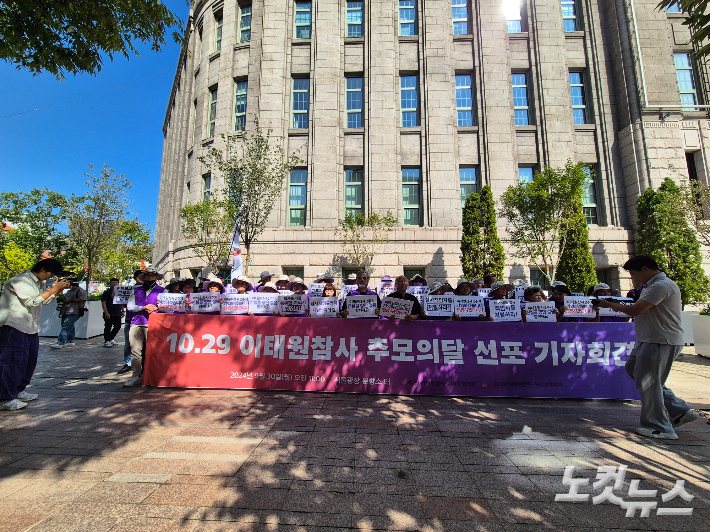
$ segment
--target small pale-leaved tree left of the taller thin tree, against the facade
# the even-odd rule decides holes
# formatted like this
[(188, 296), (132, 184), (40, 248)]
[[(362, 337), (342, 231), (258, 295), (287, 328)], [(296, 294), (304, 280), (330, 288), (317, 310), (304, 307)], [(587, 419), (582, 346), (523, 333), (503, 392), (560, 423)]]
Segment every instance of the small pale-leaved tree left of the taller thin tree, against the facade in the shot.
[(180, 209), (182, 234), (195, 254), (213, 272), (227, 264), (234, 218), (224, 200), (210, 199)]

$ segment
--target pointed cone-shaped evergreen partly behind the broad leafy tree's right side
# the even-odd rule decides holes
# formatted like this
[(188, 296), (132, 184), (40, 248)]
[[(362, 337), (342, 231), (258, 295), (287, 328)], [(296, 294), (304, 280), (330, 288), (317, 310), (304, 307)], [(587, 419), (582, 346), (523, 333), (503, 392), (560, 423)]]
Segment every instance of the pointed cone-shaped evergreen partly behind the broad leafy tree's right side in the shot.
[(596, 263), (589, 247), (589, 228), (584, 217), (581, 193), (567, 230), (567, 243), (560, 254), (555, 277), (563, 280), (572, 292), (583, 294), (598, 282)]

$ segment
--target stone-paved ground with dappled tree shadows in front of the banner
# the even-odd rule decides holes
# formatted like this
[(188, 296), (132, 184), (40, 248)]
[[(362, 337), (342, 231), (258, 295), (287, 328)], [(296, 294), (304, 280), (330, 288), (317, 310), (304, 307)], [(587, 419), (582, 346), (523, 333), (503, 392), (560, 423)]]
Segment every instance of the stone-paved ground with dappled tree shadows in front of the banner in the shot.
[[(631, 401), (125, 389), (122, 345), (53, 341), (40, 399), (0, 412), (0, 532), (710, 531), (706, 419), (658, 441)], [(710, 408), (710, 360), (686, 349), (670, 386)], [(566, 465), (693, 513), (555, 502)], [(677, 479), (692, 501), (661, 502)]]

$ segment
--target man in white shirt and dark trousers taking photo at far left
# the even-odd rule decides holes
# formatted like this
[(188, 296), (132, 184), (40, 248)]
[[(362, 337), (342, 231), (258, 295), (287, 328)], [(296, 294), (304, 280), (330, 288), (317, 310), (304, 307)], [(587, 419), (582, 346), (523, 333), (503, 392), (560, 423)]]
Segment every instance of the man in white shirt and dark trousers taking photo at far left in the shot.
[(0, 409), (18, 410), (37, 399), (25, 388), (32, 380), (39, 352), (41, 305), (69, 288), (66, 280), (47, 290), (46, 281), (64, 274), (56, 259), (44, 259), (15, 275), (0, 296)]

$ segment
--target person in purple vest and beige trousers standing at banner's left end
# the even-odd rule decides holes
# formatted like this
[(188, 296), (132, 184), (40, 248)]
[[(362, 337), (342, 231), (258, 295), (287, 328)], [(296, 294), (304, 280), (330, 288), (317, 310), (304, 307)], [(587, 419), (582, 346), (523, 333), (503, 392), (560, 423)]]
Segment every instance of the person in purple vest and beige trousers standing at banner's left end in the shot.
[(147, 268), (141, 274), (143, 284), (136, 286), (128, 300), (129, 312), (133, 313), (129, 339), (131, 342), (131, 371), (133, 375), (123, 383), (125, 387), (143, 384), (143, 354), (148, 339), (148, 316), (158, 310), (158, 294), (165, 288), (156, 284), (163, 278), (155, 268)]

